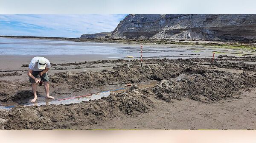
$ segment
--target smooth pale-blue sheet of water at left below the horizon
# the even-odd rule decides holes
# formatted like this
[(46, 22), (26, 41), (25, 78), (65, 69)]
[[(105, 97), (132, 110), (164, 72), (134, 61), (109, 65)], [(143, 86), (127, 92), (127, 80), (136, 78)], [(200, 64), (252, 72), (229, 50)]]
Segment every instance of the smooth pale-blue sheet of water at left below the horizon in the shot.
[(0, 38), (0, 55), (35, 55), (35, 53), (40, 53), (41, 55), (122, 53), (122, 49), (105, 45), (108, 44), (49, 39)]

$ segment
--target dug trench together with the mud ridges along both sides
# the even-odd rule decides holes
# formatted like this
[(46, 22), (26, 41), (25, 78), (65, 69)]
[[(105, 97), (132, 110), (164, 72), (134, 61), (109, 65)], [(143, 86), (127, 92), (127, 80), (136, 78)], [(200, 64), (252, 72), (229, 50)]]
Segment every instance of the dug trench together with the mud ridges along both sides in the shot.
[[(56, 95), (61, 94), (63, 89), (84, 93), (84, 90), (95, 87), (123, 86), (127, 83), (134, 85), (119, 92), (108, 92), (97, 100), (82, 99), (80, 103), (30, 107), (18, 105), (8, 113), (1, 113), (6, 119), (2, 126), (4, 129), (73, 129), (75, 126), (90, 129), (90, 126), (120, 114), (137, 117), (148, 113), (155, 107), (155, 100), (172, 102), (190, 98), (211, 104), (222, 99), (240, 98), (240, 90), (256, 87), (256, 74), (253, 73), (255, 64), (247, 68), (241, 63), (234, 63), (231, 69), (238, 70), (237, 67), (241, 67), (239, 70), (244, 72), (230, 73), (200, 65), (209, 60), (154, 59), (143, 67), (140, 67), (139, 62), (134, 62), (129, 69), (123, 64), (113, 67), (111, 71), (56, 73), (50, 77)], [(218, 65), (215, 63), (215, 66)], [(154, 84), (150, 86), (139, 85), (152, 80)], [(12, 99), (6, 98), (6, 101)]]

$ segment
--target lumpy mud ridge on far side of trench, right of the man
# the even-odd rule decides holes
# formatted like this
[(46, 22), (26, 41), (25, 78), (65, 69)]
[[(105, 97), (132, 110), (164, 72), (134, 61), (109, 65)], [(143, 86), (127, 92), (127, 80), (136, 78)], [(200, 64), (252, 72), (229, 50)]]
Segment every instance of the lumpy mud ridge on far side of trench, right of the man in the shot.
[[(70, 73), (61, 72), (50, 77), (55, 84), (65, 84), (67, 88), (73, 91), (81, 91), (86, 88), (138, 83), (140, 81), (147, 81), (149, 79), (162, 80), (169, 77), (178, 76), (189, 66), (184, 64), (161, 63), (158, 65), (145, 65), (143, 67), (133, 65), (131, 68), (126, 68), (125, 65), (114, 67), (113, 70), (103, 70), (102, 72), (81, 72)], [(203, 67), (202, 67), (203, 68)]]

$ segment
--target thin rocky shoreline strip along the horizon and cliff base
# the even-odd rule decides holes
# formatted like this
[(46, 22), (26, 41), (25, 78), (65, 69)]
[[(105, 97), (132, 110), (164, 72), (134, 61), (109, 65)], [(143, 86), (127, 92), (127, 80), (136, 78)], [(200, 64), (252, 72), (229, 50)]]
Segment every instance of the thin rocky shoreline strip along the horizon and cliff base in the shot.
[(44, 37), (44, 36), (0, 36), (2, 38), (22, 38), (22, 39), (52, 39), (52, 40), (68, 40), (74, 42), (108, 42), (123, 44), (176, 44), (176, 45), (204, 45), (219, 46), (221, 48), (253, 48), (256, 49), (256, 43), (246, 42), (223, 42), (223, 41), (184, 41), (184, 40), (141, 40), (141, 39), (96, 39), (96, 38), (67, 38), (67, 37)]

